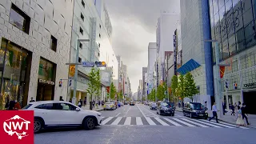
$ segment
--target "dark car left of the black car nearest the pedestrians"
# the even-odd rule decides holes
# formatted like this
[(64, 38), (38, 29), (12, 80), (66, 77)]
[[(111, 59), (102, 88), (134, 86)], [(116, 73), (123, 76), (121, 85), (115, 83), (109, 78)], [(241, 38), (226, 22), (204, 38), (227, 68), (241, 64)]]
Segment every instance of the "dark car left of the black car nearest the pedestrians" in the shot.
[(174, 116), (174, 109), (171, 106), (170, 102), (158, 102), (157, 114)]

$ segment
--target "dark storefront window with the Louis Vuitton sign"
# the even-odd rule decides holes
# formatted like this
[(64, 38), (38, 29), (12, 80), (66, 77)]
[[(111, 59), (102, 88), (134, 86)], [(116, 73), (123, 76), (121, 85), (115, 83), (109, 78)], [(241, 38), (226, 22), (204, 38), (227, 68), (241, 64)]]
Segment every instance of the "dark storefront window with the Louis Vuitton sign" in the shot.
[(36, 101), (54, 100), (56, 64), (40, 58)]

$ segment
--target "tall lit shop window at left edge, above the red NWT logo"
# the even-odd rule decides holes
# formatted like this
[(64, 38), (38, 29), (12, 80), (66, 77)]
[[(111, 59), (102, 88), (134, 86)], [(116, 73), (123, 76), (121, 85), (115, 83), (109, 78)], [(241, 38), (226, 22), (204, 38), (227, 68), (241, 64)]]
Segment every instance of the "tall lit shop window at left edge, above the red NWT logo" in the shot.
[(2, 38), (0, 50), (0, 110), (6, 103), (17, 100), (26, 106), (32, 53)]

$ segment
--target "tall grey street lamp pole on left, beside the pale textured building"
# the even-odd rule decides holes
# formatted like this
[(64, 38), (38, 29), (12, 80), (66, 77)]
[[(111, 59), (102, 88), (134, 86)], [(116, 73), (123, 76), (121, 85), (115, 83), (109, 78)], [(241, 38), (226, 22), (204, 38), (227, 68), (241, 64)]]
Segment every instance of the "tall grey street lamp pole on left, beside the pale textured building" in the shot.
[(74, 71), (74, 94), (72, 98), (72, 103), (75, 104), (76, 102), (76, 94), (77, 94), (77, 84), (78, 84), (78, 59), (79, 59), (79, 49), (80, 49), (80, 42), (90, 42), (90, 39), (78, 39), (77, 42), (77, 54), (76, 54), (76, 60), (75, 60), (75, 71)]

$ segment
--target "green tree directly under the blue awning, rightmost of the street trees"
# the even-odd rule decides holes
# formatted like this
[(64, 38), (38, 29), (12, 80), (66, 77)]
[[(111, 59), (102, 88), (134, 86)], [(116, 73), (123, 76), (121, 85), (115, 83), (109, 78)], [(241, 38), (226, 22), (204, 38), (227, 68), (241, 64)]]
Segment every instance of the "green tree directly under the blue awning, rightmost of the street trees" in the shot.
[(197, 89), (197, 86), (195, 86), (193, 75), (190, 73), (187, 73), (185, 75), (185, 82), (184, 82), (184, 95), (186, 98), (190, 98), (193, 102), (194, 95), (199, 93), (199, 90)]

